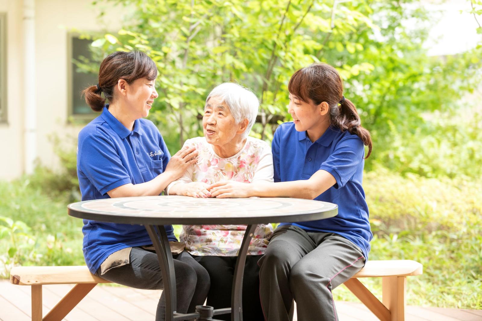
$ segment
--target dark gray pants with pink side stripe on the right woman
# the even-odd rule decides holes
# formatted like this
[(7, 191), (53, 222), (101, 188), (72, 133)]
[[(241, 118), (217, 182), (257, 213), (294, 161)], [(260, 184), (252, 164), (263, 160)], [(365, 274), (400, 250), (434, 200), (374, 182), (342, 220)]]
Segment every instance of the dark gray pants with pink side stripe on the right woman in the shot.
[(267, 321), (338, 320), (332, 290), (364, 265), (358, 246), (334, 233), (281, 226), (259, 260), (261, 306)]

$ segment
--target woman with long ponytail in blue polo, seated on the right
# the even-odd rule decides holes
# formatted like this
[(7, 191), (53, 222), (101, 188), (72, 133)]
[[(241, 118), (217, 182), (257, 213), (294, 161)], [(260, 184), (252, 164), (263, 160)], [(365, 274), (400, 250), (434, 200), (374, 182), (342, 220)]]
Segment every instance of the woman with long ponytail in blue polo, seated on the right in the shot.
[(268, 321), (337, 320), (332, 289), (365, 264), (372, 233), (362, 187), (364, 145), (370, 134), (356, 107), (343, 96), (334, 67), (313, 64), (296, 71), (288, 85), (288, 112), (272, 141), (275, 183), (221, 182), (213, 197), (293, 197), (333, 202), (338, 215), (318, 221), (281, 223), (259, 260), (260, 295)]

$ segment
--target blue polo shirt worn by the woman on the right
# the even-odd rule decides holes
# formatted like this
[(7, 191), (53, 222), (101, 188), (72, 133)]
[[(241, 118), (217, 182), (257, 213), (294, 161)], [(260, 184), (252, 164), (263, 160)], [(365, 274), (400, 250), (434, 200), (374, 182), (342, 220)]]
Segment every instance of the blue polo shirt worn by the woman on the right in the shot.
[(297, 132), (293, 122), (286, 122), (277, 128), (271, 149), (275, 182), (308, 179), (319, 170), (329, 172), (336, 179), (335, 185), (315, 200), (337, 204), (338, 215), (281, 225), (296, 225), (310, 232), (339, 234), (359, 246), (365, 260), (368, 260), (373, 235), (362, 187), (365, 149), (360, 137), (329, 127), (318, 140), (311, 143), (306, 132)]

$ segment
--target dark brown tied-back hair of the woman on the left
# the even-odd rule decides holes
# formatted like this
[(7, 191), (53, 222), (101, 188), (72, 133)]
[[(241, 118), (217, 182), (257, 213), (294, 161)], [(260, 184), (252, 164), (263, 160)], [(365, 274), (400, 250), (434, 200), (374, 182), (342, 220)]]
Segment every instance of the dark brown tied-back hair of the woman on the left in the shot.
[[(119, 79), (131, 84), (139, 78), (154, 80), (157, 77), (157, 67), (154, 61), (140, 51), (116, 51), (109, 54), (100, 64), (97, 85), (85, 88), (85, 102), (94, 111), (102, 111), (106, 99), (112, 102), (114, 87)], [(101, 94), (104, 93), (102, 98)]]

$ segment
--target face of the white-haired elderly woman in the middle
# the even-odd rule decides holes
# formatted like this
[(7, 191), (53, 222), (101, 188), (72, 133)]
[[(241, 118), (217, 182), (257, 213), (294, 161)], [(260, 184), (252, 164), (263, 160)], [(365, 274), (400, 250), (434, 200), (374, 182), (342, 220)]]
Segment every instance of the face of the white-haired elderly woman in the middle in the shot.
[(229, 107), (219, 97), (211, 97), (204, 107), (202, 128), (211, 145), (224, 146), (236, 136), (241, 125), (236, 124)]

